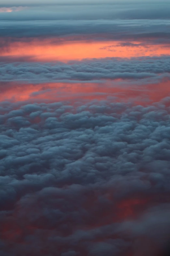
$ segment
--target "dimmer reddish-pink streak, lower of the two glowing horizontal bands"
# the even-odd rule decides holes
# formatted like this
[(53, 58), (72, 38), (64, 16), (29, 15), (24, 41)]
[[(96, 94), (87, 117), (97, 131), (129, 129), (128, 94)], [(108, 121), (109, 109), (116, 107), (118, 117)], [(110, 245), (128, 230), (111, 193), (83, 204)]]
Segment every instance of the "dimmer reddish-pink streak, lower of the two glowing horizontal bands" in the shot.
[[(112, 82), (112, 83), (111, 83)], [(133, 101), (145, 104), (145, 100), (158, 102), (170, 95), (170, 81), (141, 86), (119, 86), (115, 81), (107, 81), (106, 84), (96, 83), (47, 83), (47, 84), (16, 84), (11, 83), (0, 94), (0, 101), (11, 100), (46, 100), (48, 102), (62, 100), (81, 99), (106, 99), (107, 96), (115, 96), (117, 100)]]

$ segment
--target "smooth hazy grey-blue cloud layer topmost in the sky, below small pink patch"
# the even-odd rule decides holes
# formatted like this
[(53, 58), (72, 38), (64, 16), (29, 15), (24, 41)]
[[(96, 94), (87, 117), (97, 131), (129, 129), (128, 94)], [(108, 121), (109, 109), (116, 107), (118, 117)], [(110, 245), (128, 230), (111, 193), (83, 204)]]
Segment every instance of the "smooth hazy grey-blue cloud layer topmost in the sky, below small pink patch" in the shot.
[(2, 13), (1, 20), (169, 19), (170, 3), (37, 5), (21, 13)]

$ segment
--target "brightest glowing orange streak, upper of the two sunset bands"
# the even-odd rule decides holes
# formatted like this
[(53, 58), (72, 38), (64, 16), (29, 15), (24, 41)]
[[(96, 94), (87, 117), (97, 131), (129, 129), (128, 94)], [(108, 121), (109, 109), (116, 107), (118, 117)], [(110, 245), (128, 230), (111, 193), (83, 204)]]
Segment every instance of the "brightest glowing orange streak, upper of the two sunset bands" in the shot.
[[(137, 42), (132, 42), (137, 43)], [(140, 43), (140, 42), (138, 42)], [(51, 40), (33, 40), (32, 42), (12, 43), (1, 56), (25, 57), (33, 61), (69, 61), (86, 58), (121, 57), (131, 58), (137, 56), (160, 56), (170, 53), (170, 46), (120, 46), (120, 42), (87, 42), (69, 41), (54, 44)]]

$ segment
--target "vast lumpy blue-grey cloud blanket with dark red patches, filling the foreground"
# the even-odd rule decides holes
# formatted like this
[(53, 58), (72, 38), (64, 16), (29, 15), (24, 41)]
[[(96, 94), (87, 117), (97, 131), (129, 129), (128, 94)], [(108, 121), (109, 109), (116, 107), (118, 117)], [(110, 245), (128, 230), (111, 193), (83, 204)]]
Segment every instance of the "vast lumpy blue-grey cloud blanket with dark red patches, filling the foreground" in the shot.
[(170, 235), (169, 99), (25, 104), (0, 107), (1, 255), (162, 249)]

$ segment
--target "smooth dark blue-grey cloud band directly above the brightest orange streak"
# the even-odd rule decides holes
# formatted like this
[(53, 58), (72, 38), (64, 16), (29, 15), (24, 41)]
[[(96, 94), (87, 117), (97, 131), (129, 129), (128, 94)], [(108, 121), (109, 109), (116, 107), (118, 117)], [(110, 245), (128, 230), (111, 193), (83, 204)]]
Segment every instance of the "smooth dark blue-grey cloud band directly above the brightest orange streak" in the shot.
[[(17, 13), (18, 15), (18, 13)], [(25, 16), (24, 16), (25, 17)], [(169, 19), (145, 19), (145, 20), (123, 20), (123, 19), (93, 19), (84, 20), (30, 20), (30, 21), (8, 21), (2, 20), (1, 24), (1, 38), (9, 37), (4, 42), (1, 39), (1, 45), (10, 43), (11, 38), (29, 38), (29, 37), (43, 37), (43, 36), (64, 36), (70, 35), (71, 40), (83, 39), (82, 35), (86, 35), (93, 40), (141, 40), (162, 39), (164, 42), (169, 42)], [(79, 38), (79, 39), (78, 39)], [(85, 38), (86, 39), (86, 38)], [(14, 40), (14, 39), (13, 39)], [(16, 40), (16, 39), (15, 39)], [(27, 39), (28, 41), (29, 39)], [(58, 43), (60, 43), (58, 39)]]

